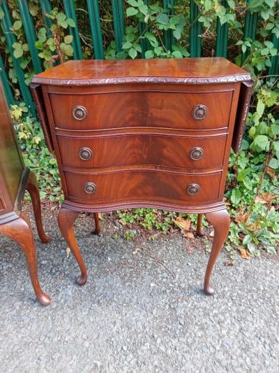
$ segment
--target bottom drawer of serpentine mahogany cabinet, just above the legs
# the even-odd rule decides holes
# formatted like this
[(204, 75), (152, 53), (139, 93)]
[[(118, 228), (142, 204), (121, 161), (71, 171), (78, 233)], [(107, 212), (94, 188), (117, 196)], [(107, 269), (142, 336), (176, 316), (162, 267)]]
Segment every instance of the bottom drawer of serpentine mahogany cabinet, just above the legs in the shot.
[(81, 174), (64, 172), (68, 196), (74, 202), (160, 201), (189, 205), (216, 202), (222, 171), (181, 174), (155, 170), (125, 170)]

